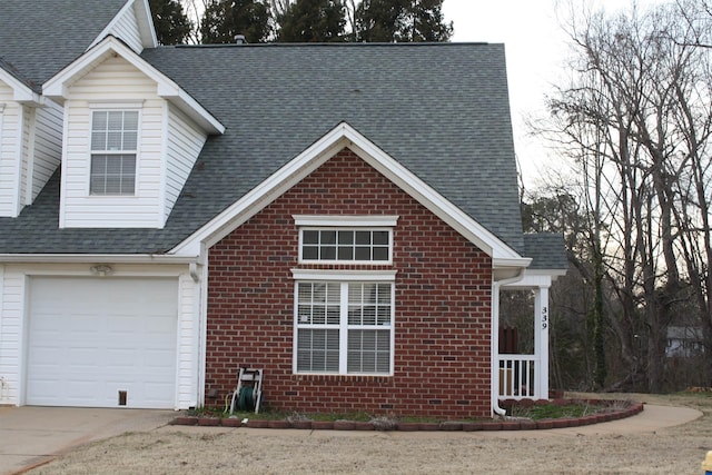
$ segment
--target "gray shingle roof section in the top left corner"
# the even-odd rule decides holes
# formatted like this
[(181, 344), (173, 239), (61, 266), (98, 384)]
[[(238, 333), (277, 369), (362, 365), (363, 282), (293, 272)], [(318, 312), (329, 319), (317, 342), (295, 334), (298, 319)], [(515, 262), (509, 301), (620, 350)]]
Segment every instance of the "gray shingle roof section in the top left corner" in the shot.
[(0, 59), (6, 62), (0, 68), (13, 76), (19, 71), (39, 91), (89, 48), (126, 2), (101, 0), (101, 8), (90, 8), (87, 0), (0, 0)]

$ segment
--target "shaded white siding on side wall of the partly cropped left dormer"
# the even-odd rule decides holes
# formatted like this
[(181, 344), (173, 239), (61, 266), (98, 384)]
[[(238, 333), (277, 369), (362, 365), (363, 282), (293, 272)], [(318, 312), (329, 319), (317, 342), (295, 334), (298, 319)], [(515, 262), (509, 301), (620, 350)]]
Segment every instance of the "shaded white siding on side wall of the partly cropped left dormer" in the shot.
[(32, 189), (29, 202), (34, 201), (52, 176), (62, 156), (62, 108), (47, 99), (34, 113), (34, 147), (32, 157)]

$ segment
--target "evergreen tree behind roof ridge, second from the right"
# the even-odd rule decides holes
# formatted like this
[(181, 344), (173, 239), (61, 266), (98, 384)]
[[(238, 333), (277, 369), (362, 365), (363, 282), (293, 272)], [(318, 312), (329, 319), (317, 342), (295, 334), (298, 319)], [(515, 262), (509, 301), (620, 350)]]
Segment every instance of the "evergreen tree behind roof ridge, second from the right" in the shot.
[(277, 41), (325, 42), (340, 40), (346, 23), (340, 0), (297, 0), (281, 18)]

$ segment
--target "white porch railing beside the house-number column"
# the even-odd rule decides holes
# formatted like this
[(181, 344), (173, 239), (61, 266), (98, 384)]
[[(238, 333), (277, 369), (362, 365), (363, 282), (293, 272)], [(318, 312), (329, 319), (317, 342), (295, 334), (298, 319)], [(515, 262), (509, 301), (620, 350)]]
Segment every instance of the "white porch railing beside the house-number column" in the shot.
[(538, 362), (535, 355), (500, 355), (500, 398), (544, 399), (535, 384)]

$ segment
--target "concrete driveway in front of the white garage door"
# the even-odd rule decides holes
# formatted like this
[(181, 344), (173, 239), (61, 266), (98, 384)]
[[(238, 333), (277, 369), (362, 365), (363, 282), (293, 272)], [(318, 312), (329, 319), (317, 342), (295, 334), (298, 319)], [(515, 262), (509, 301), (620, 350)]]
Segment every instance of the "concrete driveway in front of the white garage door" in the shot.
[(152, 431), (176, 413), (151, 409), (0, 407), (0, 474), (16, 474), (87, 442)]

